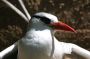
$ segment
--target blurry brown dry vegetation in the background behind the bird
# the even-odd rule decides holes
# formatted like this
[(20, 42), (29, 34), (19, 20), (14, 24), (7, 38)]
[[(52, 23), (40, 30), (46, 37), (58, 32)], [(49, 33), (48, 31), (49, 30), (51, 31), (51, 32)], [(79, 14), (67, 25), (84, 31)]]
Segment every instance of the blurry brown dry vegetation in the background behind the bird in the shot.
[[(10, 1), (21, 9), (17, 0)], [(60, 41), (72, 42), (90, 50), (89, 0), (24, 0), (24, 2), (31, 15), (40, 11), (49, 12), (77, 30), (77, 33), (56, 32), (55, 36)], [(0, 51), (19, 40), (24, 35), (26, 27), (27, 23), (0, 1)]]

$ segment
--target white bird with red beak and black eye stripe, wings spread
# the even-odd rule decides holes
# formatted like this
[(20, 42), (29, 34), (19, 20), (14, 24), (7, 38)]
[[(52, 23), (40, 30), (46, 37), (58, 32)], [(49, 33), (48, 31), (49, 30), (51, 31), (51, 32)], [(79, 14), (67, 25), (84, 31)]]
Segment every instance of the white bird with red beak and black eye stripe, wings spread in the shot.
[[(24, 17), (22, 16), (22, 18)], [(59, 22), (57, 17), (52, 14), (45, 12), (34, 14), (29, 22), (26, 35), (0, 52), (0, 59), (14, 54), (16, 50), (18, 50), (18, 59), (63, 59), (65, 54), (71, 54), (72, 52), (90, 59), (89, 51), (72, 43), (58, 41), (53, 35), (56, 29), (76, 32), (70, 26)]]

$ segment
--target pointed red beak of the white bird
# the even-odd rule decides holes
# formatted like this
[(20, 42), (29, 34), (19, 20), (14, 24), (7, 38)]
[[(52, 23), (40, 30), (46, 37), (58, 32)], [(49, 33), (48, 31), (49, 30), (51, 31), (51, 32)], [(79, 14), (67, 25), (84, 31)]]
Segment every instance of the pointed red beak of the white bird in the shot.
[(65, 30), (76, 33), (76, 30), (74, 30), (72, 27), (62, 22), (51, 23), (51, 26), (54, 26), (56, 30)]

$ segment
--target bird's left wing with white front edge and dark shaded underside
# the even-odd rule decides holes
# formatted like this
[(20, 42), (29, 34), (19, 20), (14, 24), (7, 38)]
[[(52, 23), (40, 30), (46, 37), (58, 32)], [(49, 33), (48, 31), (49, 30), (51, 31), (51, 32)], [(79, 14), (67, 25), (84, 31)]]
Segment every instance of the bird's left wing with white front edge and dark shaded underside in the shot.
[(17, 59), (17, 43), (0, 52), (0, 59)]

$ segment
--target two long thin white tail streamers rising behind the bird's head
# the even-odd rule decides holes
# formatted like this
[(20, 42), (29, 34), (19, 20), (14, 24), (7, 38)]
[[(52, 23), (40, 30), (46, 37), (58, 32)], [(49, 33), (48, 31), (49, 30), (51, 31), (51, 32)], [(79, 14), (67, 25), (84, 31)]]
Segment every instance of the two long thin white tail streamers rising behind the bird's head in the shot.
[(26, 22), (29, 22), (31, 16), (29, 14), (29, 12), (27, 11), (24, 3), (22, 0), (18, 0), (22, 9), (24, 10), (25, 14), (23, 12), (21, 12), (17, 7), (15, 7), (12, 3), (10, 3), (7, 0), (1, 0), (2, 2), (4, 2), (6, 5), (8, 5), (12, 10), (14, 10), (18, 15), (20, 15)]

